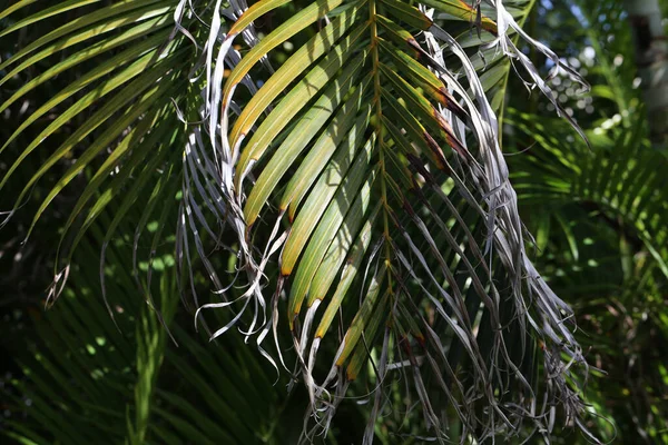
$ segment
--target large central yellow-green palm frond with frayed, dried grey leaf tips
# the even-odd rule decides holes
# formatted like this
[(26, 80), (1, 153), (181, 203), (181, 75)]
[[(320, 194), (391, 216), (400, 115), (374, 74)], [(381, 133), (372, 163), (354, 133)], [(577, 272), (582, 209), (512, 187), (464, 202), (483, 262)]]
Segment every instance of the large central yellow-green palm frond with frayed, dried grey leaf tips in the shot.
[[(546, 415), (531, 404), (524, 405), (525, 412), (515, 409), (520, 394), (529, 398), (534, 394), (520, 367), (537, 339), (548, 345), (543, 372), (556, 378), (552, 387), (558, 388), (548, 399), (569, 400), (568, 416), (574, 415), (580, 409), (578, 398), (557, 370), (559, 350), (582, 362), (563, 325), (569, 309), (527, 259), (494, 113), (464, 49), (406, 3), (318, 1), (254, 44), (229, 66), (224, 79), (220, 62), (235, 37), (281, 4), (255, 3), (232, 26), (217, 51), (209, 48), (214, 55), (208, 56), (206, 70), (213, 81), (203, 92), (208, 115), (202, 116), (203, 127), (193, 139), (200, 147), (196, 161), (220, 166), (220, 198), (228, 205), (225, 217), (238, 235), (238, 267), (246, 274), (239, 279), (248, 286), (238, 317), (254, 309), (246, 330), (249, 336), (261, 333), (258, 344), (278, 323), (276, 299), (286, 290), (297, 370), (312, 398), (308, 414), (320, 417), (306, 436), (322, 425), (326, 429), (372, 349), (381, 357), (374, 364), (381, 387), (387, 368), (401, 369), (400, 363), (412, 368), (406, 377), (412, 383), (406, 385), (439, 438), (444, 437), (444, 426), (436, 414), (440, 406), (432, 403), (424, 383), (428, 375), (434, 376), (432, 383), (455, 407), (463, 436), (517, 432), (524, 413), (538, 419)], [(469, 11), (469, 20), (479, 17), (479, 10), (463, 2), (430, 6), (460, 19), (462, 10)], [(502, 18), (521, 33), (500, 3), (492, 6), (495, 19)], [(237, 108), (236, 87), (255, 72), (257, 62), (322, 18), (327, 24), (311, 33)], [(497, 31), (487, 16), (481, 22), (488, 23), (488, 31)], [(492, 42), (517, 57), (551, 97), (505, 30), (492, 36)], [(423, 49), (413, 37), (420, 31), (426, 48), (435, 52)], [(444, 68), (438, 40), (449, 46), (466, 83)], [(540, 44), (539, 49), (556, 58)], [(209, 139), (205, 142), (200, 134)], [(484, 221), (483, 227), (473, 228), (475, 220)], [(451, 236), (456, 230), (459, 239)], [(266, 320), (269, 303), (262, 281), (271, 260), (278, 263), (281, 276), (271, 290), (274, 309)], [(459, 280), (460, 274), (469, 279)], [(354, 309), (357, 303), (351, 294), (357, 293), (360, 305)], [(227, 305), (224, 300), (202, 308)], [(484, 313), (483, 322), (479, 310)], [(340, 312), (343, 336), (332, 338), (332, 322)], [(430, 312), (436, 314), (436, 322), (428, 322)], [(508, 342), (518, 333), (521, 347), (511, 350)], [(323, 373), (316, 366), (326, 343), (338, 346)], [(460, 348), (463, 353), (451, 355)], [(458, 375), (459, 366), (471, 372), (468, 378)], [(492, 370), (499, 367), (505, 370)], [(512, 390), (511, 378), (517, 382)], [(375, 400), (370, 428), (381, 400)]]

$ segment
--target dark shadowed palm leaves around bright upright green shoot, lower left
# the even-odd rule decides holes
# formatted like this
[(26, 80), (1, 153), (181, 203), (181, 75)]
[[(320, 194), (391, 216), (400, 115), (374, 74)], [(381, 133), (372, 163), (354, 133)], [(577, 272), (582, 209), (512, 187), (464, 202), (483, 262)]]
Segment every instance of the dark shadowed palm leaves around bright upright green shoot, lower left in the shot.
[[(105, 230), (94, 225), (91, 234), (99, 244)], [(272, 388), (258, 358), (239, 337), (204, 347), (202, 336), (175, 319), (179, 293), (171, 256), (160, 255), (160, 266), (151, 266), (160, 319), (135, 297), (129, 264), (115, 261), (106, 270), (114, 324), (102, 301), (90, 297), (99, 287), (96, 243), (77, 249), (77, 266), (53, 310), (32, 312), (38, 340), (26, 342), (30, 349), (16, 355), (22, 374), (4, 394), (18, 392), (20, 398), (7, 398), (12, 415), (2, 434), (33, 444), (281, 443), (289, 431), (275, 428), (285, 394)], [(130, 253), (122, 238), (108, 249), (110, 258)], [(170, 342), (163, 323), (184, 347)]]

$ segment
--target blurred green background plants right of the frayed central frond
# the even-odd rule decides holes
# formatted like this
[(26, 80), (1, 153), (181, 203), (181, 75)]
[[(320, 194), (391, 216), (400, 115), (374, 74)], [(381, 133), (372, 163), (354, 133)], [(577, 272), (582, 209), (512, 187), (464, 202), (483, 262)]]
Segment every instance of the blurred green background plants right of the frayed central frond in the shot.
[[(515, 98), (513, 106), (533, 111), (508, 110), (504, 148), (521, 152), (508, 159), (523, 220), (536, 235), (537, 267), (581, 314), (578, 338), (606, 372), (588, 385), (588, 402), (602, 416), (590, 427), (606, 442), (655, 444), (668, 441), (668, 362), (656, 347), (668, 332), (661, 174), (668, 159), (650, 145), (626, 14), (616, 1), (538, 11), (537, 38), (554, 39), (593, 86), (590, 97), (573, 98), (567, 77), (554, 81), (591, 147), (549, 110)], [(558, 22), (559, 31), (541, 22)]]

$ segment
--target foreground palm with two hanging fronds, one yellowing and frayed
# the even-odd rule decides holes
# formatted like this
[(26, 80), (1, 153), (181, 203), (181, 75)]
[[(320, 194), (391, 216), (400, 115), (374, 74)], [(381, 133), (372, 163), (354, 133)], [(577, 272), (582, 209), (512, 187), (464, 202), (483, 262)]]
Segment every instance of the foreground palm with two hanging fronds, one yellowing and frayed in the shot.
[[(174, 286), (189, 296), (198, 324), (216, 326), (212, 339), (236, 326), (276, 369), (302, 377), (310, 399), (303, 439), (326, 432), (345, 397), (366, 393), (365, 443), (387, 411), (407, 434), (484, 441), (547, 437), (559, 405), (567, 424), (589, 434), (579, 394), (587, 364), (572, 313), (527, 255), (499, 145), (495, 110), (511, 60), (561, 109), (518, 40), (578, 79), (520, 27), (533, 1), (32, 3), (0, 12), (13, 20), (0, 37), (70, 11), (76, 18), (0, 65), (0, 85), (18, 83), (0, 110), (68, 70), (92, 67), (0, 148), (2, 156), (14, 150), (6, 189), (33, 151), (80, 119), (28, 175), (7, 220), (59, 162), (69, 167), (28, 235), (86, 176), (63, 224), (49, 299), (66, 288), (76, 248), (104, 227), (100, 278), (114, 319), (108, 276), (120, 280), (114, 269), (121, 267), (106, 258), (119, 228), (136, 226), (120, 238), (134, 246), (135, 270), (148, 258), (135, 288), (155, 309), (141, 313), (138, 327), (138, 393), (150, 394), (164, 346), (154, 347), (165, 343), (153, 317), (166, 328), (173, 317), (166, 288), (151, 291), (151, 275), (177, 211)], [(239, 34), (244, 43), (235, 44)], [(57, 55), (60, 61), (21, 79)], [(57, 117), (17, 148), (51, 110)], [(203, 300), (199, 265), (215, 298)], [(233, 315), (208, 310), (223, 308)], [(127, 428), (137, 442), (148, 428), (141, 400)]]

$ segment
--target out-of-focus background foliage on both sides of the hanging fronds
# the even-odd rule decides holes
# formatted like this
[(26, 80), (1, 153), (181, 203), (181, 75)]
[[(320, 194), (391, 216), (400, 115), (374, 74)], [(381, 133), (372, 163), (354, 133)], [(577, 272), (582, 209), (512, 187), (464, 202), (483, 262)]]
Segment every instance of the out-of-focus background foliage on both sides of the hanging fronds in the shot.
[[(27, 8), (22, 13), (28, 17), (29, 12)], [(278, 13), (289, 17), (293, 11)], [(76, 17), (66, 12), (39, 26), (56, 29)], [(271, 29), (272, 18), (266, 20), (264, 26)], [(11, 26), (7, 20), (2, 24)], [(651, 151), (646, 140), (623, 9), (616, 1), (541, 1), (534, 4), (527, 26), (530, 33), (579, 67), (592, 85), (591, 95), (581, 96), (567, 76), (553, 82), (559, 100), (586, 130), (591, 149), (553, 116), (549, 103), (536, 93), (524, 93), (513, 76), (499, 80), (501, 92), (497, 96), (505, 98), (503, 149), (520, 210), (536, 236), (537, 267), (576, 308), (578, 336), (589, 347), (588, 359), (607, 373), (601, 377), (592, 372), (589, 380), (587, 400), (601, 416), (599, 421), (592, 417), (590, 427), (603, 439), (616, 437), (619, 443), (668, 443), (668, 360), (657, 347), (668, 342), (668, 179), (661, 174), (668, 166), (665, 154)], [(0, 39), (3, 60), (16, 51), (17, 43), (21, 48), (32, 40), (26, 30), (14, 37)], [(285, 49), (285, 57), (288, 53)], [(282, 51), (275, 57), (283, 57)], [(0, 101), (55, 62), (40, 60), (9, 79)], [(96, 66), (95, 60), (85, 61), (75, 72)], [(42, 98), (56, 96), (70, 82), (71, 78), (55, 76), (3, 110), (2, 140)], [(68, 100), (62, 109), (71, 103)], [(40, 123), (52, 122), (58, 111), (42, 116)], [(95, 107), (90, 113), (94, 111)], [(86, 119), (75, 117), (48, 144), (58, 147), (67, 141)], [(23, 134), (12, 147), (26, 147), (35, 136)], [(97, 137), (95, 132), (87, 136), (90, 142)], [(38, 150), (29, 162), (42, 165), (50, 151)], [(76, 154), (69, 155), (49, 170), (43, 184), (33, 187), (21, 211), (0, 231), (1, 346), (3, 355), (12, 357), (2, 376), (2, 434), (19, 443), (38, 444), (100, 443), (100, 437), (104, 443), (137, 444), (294, 443), (306, 406), (299, 385), (288, 395), (286, 377), (274, 384), (274, 370), (253, 349), (243, 347), (239, 336), (226, 335), (207, 344), (205, 333), (193, 329), (191, 315), (177, 310), (184, 273), (176, 267), (169, 246), (154, 243), (161, 230), (166, 239), (176, 236), (171, 221), (177, 206), (158, 206), (150, 220), (143, 220), (139, 208), (150, 202), (153, 190), (137, 196), (137, 207), (125, 209), (120, 201), (111, 202), (100, 212), (75, 253), (61, 299), (43, 312), (43, 290), (55, 267), (52, 253), (68, 224), (68, 209), (76, 205), (79, 186), (86, 180), (73, 177), (69, 191), (58, 195), (38, 221), (30, 241), (24, 247), (21, 243), (49, 186), (76, 158)], [(2, 176), (10, 167), (4, 159), (3, 155)], [(96, 162), (91, 159), (90, 171), (82, 172), (88, 180), (102, 161)], [(26, 166), (24, 175), (29, 177), (30, 171), (35, 168)], [(18, 195), (19, 185), (27, 182), (21, 175), (19, 170), (6, 186), (13, 192), (0, 197), (2, 209), (12, 207), (16, 196), (8, 195)], [(177, 190), (167, 192), (168, 199), (183, 199)], [(119, 208), (128, 217), (109, 237), (107, 228)], [(174, 215), (160, 211), (163, 208), (171, 208)], [(137, 259), (140, 275), (132, 267), (138, 225), (146, 227)], [(108, 247), (100, 271), (102, 246)], [(219, 263), (218, 267), (232, 267), (226, 258)], [(194, 285), (206, 294), (207, 278), (200, 269)], [(114, 319), (101, 299), (100, 277), (105, 277)], [(154, 296), (168, 330), (139, 293)], [(226, 322), (214, 317), (224, 315), (212, 313), (212, 325)], [(366, 421), (357, 402), (366, 400), (371, 389), (353, 388), (360, 398), (342, 405), (327, 443), (351, 443), (361, 436)], [(412, 436), (418, 432), (411, 429), (416, 425), (414, 417), (399, 411), (382, 417), (376, 437), (387, 444), (420, 443)], [(401, 425), (403, 429), (397, 428)], [(572, 433), (556, 442), (586, 439)]]

